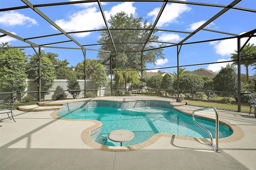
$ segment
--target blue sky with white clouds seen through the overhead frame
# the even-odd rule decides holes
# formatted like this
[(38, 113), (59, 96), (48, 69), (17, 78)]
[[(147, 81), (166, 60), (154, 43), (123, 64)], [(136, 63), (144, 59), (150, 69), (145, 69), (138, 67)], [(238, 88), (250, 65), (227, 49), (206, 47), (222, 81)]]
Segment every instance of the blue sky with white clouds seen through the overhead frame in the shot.
[[(47, 4), (66, 1), (30, 0), (29, 2), (32, 4)], [(230, 4), (232, 0), (193, 0), (192, 2), (227, 5)], [(10, 8), (24, 5), (25, 4), (20, 0), (0, 1), (0, 8)], [(107, 19), (110, 19), (110, 15), (124, 11), (128, 14), (134, 14), (136, 17), (142, 17), (143, 20), (147, 20), (149, 23), (154, 22), (154, 19), (158, 15), (161, 6), (162, 2), (102, 2), (102, 7), (105, 12), (104, 14)], [(236, 6), (256, 10), (256, 0), (242, 0)], [(60, 26), (65, 32), (94, 30), (100, 29), (104, 26), (104, 21), (97, 3), (39, 7), (38, 9), (44, 12), (48, 18)], [(158, 21), (157, 28), (163, 30), (193, 32), (221, 10), (222, 8), (213, 8), (209, 6), (168, 3), (162, 16), (160, 17), (160, 20)], [(0, 28), (22, 38), (60, 33), (58, 30), (56, 30), (56, 28), (52, 27), (48, 22), (46, 22), (46, 20), (37, 15), (30, 8), (14, 10), (12, 12), (0, 12)], [(229, 32), (232, 34), (242, 34), (256, 28), (256, 13), (231, 9), (214, 20), (212, 23), (208, 24), (208, 26), (205, 28), (220, 32)], [(100, 37), (99, 32), (86, 32), (70, 35), (82, 45), (94, 44)], [(159, 36), (159, 41), (161, 42), (174, 43), (178, 43), (188, 36), (186, 33), (177, 32), (158, 32), (157, 35)], [(198, 32), (198, 34), (189, 38), (185, 43), (224, 37), (226, 37), (224, 34), (216, 34), (214, 32), (201, 30)], [(49, 42), (52, 43), (66, 40), (69, 39), (66, 36), (61, 35), (41, 39), (32, 39), (30, 41), (37, 44), (45, 44)], [(243, 44), (245, 41), (246, 39), (243, 38), (241, 43)], [(0, 43), (2, 42), (8, 42), (12, 46), (29, 45), (9, 36), (0, 38)], [(256, 44), (256, 38), (252, 38), (250, 43)], [(49, 46), (79, 47), (75, 43), (61, 43)], [(98, 49), (99, 46), (88, 46), (86, 48)], [(234, 53), (234, 50), (236, 49), (236, 39), (182, 45), (179, 65), (228, 61), (231, 57), (230, 53)], [(53, 48), (44, 48), (44, 50), (46, 52), (58, 53), (59, 59), (67, 59), (70, 66), (75, 66), (76, 63), (81, 62), (84, 58), (81, 50), (63, 50)], [(25, 52), (26, 54), (34, 53), (32, 49), (25, 49)], [(160, 67), (174, 67), (177, 65), (176, 47), (164, 48), (163, 53), (165, 54), (165, 59), (159, 59), (156, 66), (148, 64), (148, 69), (152, 69), (153, 72), (156, 72)], [(87, 58), (96, 59), (96, 56), (97, 51), (86, 51)], [(193, 71), (195, 69), (205, 68), (218, 73), (220, 68), (225, 67), (226, 64), (227, 63), (216, 63), (190, 67), (186, 66), (186, 69)], [(255, 74), (255, 70), (252, 69), (253, 67), (249, 67), (249, 75)], [(160, 69), (160, 71), (168, 71), (172, 73), (174, 69)], [(241, 67), (241, 72), (245, 73), (245, 67)]]

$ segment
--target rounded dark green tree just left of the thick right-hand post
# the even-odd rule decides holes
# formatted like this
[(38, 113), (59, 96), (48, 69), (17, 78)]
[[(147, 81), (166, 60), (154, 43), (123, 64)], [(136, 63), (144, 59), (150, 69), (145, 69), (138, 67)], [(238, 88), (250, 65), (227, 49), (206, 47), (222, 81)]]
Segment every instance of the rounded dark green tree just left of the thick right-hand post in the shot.
[[(221, 67), (219, 73), (213, 78), (214, 89), (223, 92), (237, 92), (237, 73), (232, 65)], [(222, 97), (235, 97), (232, 93), (220, 93)], [(237, 97), (235, 97), (237, 99)]]

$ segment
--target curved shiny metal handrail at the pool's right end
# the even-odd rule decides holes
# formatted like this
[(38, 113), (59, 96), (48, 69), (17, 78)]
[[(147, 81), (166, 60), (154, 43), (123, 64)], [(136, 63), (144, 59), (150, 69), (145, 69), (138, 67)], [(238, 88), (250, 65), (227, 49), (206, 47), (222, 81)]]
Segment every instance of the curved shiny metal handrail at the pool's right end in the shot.
[[(196, 120), (195, 120), (195, 117), (194, 117), (194, 113), (195, 112), (198, 112), (198, 111), (204, 111), (204, 110), (209, 110), (209, 109), (213, 109), (215, 111), (215, 116), (216, 116), (216, 135), (215, 135), (215, 138), (216, 138), (216, 145), (213, 144), (212, 142), (212, 134), (209, 130), (207, 130), (205, 127), (203, 127), (200, 123), (198, 123)], [(216, 146), (213, 150), (215, 152), (220, 152), (219, 150), (219, 146), (218, 146), (218, 139), (219, 139), (219, 115), (218, 115), (218, 111), (215, 107), (207, 107), (207, 108), (203, 108), (203, 109), (198, 109), (198, 110), (194, 110), (192, 112), (192, 118), (193, 118), (193, 121), (198, 125), (200, 126), (202, 129), (204, 129), (210, 136), (210, 143), (208, 143), (208, 145), (210, 146)]]

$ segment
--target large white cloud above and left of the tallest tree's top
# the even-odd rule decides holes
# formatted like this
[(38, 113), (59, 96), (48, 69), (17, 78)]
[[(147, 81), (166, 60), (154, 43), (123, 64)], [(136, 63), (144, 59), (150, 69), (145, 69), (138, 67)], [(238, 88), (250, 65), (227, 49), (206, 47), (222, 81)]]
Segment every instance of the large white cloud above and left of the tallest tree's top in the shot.
[[(124, 2), (113, 6), (110, 11), (104, 11), (106, 19), (110, 19), (110, 15), (117, 12), (126, 12), (128, 14), (135, 14), (136, 8), (132, 6), (133, 2)], [(93, 17), (92, 17), (93, 16)], [(55, 23), (63, 28), (66, 32), (95, 30), (105, 26), (101, 12), (98, 8), (90, 7), (84, 10), (76, 11), (74, 14), (67, 17), (67, 19), (56, 20)], [(90, 32), (74, 34), (77, 37), (88, 36)]]

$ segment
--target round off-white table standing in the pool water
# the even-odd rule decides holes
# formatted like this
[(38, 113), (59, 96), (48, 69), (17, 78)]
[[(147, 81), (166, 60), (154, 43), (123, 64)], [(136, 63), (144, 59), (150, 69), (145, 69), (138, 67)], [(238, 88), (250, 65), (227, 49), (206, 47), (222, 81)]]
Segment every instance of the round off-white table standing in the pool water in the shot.
[(127, 142), (134, 138), (134, 133), (130, 130), (118, 129), (110, 132), (108, 138), (114, 142), (120, 142), (122, 146), (122, 142)]

